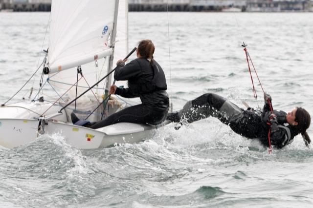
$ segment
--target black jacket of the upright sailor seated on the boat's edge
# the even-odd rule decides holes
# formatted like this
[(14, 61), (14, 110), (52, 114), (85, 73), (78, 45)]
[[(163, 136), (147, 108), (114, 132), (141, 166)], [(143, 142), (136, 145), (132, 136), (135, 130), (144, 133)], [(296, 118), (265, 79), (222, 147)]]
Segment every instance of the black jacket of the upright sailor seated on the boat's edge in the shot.
[(114, 72), (116, 81), (128, 80), (128, 88), (117, 88), (115, 94), (125, 98), (140, 97), (142, 104), (152, 110), (169, 109), (167, 85), (161, 66), (144, 58), (135, 59), (124, 66), (119, 62)]

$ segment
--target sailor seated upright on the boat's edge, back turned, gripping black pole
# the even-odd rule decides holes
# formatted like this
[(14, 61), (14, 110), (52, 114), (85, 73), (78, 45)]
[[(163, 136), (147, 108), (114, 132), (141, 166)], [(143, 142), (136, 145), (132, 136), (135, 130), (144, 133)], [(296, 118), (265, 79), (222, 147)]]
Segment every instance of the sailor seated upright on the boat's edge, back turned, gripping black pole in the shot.
[[(110, 94), (124, 98), (139, 97), (141, 104), (118, 111), (103, 121), (89, 124), (96, 129), (120, 122), (158, 125), (162, 123), (169, 110), (167, 85), (161, 66), (153, 59), (155, 46), (151, 40), (142, 40), (137, 47), (137, 59), (125, 65), (119, 60), (114, 71), (116, 81), (128, 81), (128, 88), (110, 87)], [(79, 125), (79, 119), (71, 114), (73, 124)], [(86, 123), (84, 123), (86, 125)]]

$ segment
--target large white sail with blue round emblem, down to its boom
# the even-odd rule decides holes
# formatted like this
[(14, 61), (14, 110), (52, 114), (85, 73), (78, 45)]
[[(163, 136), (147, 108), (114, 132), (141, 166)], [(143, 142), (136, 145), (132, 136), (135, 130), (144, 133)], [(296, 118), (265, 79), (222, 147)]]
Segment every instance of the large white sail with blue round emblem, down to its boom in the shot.
[(112, 54), (115, 0), (53, 0), (50, 17), (50, 72), (76, 67)]

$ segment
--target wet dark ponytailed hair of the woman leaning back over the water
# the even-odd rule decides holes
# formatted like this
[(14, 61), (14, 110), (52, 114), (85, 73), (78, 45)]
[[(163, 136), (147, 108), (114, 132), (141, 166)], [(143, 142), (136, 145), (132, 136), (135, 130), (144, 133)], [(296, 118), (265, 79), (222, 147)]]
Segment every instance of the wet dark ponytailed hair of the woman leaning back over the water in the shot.
[(294, 121), (298, 122), (298, 125), (295, 126), (298, 133), (301, 133), (302, 138), (305, 142), (305, 145), (309, 147), (309, 144), (311, 143), (311, 139), (307, 133), (307, 129), (309, 128), (311, 124), (311, 116), (302, 107), (297, 107), (297, 111), (295, 112), (295, 119)]

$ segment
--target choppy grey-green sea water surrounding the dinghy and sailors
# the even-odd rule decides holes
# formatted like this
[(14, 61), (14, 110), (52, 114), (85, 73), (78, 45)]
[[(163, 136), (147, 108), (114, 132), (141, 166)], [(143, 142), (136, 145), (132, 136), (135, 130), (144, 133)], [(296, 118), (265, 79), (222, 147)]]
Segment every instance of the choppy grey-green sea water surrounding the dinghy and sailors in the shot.
[[(48, 19), (49, 13), (0, 13), (1, 103), (42, 61)], [(262, 107), (255, 76), (253, 98), (244, 41), (274, 109), (301, 106), (313, 115), (312, 20), (313, 13), (130, 13), (129, 47), (142, 39), (155, 43), (174, 110), (210, 92)], [(37, 88), (39, 78), (32, 81)], [(313, 137), (312, 128), (308, 133)], [(45, 135), (0, 149), (0, 206), (312, 207), (312, 147), (297, 136), (268, 154), (214, 118), (95, 150)]]

